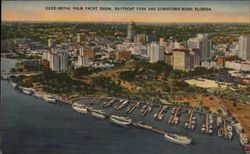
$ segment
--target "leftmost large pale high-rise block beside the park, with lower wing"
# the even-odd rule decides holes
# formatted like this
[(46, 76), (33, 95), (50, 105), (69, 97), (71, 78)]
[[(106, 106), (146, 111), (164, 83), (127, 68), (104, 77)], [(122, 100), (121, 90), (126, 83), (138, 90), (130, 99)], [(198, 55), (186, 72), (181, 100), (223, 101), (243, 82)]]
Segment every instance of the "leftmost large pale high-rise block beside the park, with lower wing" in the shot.
[(68, 53), (65, 51), (46, 51), (43, 59), (49, 62), (49, 67), (55, 72), (66, 72), (68, 70)]

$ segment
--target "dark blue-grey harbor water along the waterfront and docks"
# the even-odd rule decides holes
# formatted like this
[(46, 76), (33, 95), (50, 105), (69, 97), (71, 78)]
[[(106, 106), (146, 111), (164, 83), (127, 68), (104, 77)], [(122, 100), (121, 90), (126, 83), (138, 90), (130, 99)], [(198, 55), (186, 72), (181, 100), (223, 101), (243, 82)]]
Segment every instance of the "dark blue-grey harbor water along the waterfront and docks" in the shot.
[[(10, 68), (8, 60), (1, 60), (2, 68)], [(6, 67), (5, 67), (6, 65)], [(8, 67), (8, 68), (7, 68)], [(4, 154), (241, 154), (243, 148), (239, 138), (230, 142), (217, 135), (203, 135), (200, 132), (203, 115), (196, 115), (198, 126), (195, 131), (186, 130), (187, 114), (181, 115), (177, 126), (167, 123), (170, 110), (162, 121), (154, 120), (154, 108), (144, 118), (137, 108), (126, 114), (126, 108), (115, 111), (113, 106), (105, 109), (108, 114), (131, 117), (161, 130), (178, 133), (193, 139), (194, 144), (183, 146), (169, 142), (163, 135), (135, 127), (124, 128), (109, 119), (96, 119), (90, 114), (79, 114), (64, 103), (47, 103), (33, 96), (14, 90), (6, 80), (1, 80), (1, 149)], [(89, 100), (80, 100), (88, 104)], [(94, 107), (100, 108), (101, 105)], [(236, 133), (234, 133), (236, 134)]]

